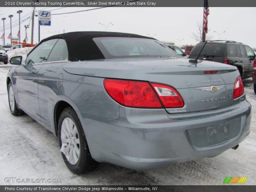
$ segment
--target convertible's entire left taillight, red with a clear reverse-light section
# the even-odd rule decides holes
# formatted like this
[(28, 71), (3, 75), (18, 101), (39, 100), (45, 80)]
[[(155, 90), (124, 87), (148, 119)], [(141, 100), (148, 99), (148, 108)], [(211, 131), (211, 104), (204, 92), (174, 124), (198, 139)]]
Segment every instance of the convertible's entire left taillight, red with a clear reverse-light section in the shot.
[(142, 81), (105, 79), (104, 87), (110, 97), (126, 107), (163, 108), (164, 106), (165, 108), (179, 108), (184, 106), (180, 94), (168, 85), (156, 83), (150, 85), (148, 82)]

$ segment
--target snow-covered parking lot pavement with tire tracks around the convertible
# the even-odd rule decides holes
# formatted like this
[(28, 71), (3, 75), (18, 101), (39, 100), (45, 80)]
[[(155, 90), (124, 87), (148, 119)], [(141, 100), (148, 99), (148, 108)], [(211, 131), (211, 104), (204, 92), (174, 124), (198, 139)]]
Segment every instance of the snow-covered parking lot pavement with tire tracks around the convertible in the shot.
[[(9, 66), (9, 65), (8, 65)], [(244, 80), (247, 100), (252, 104), (250, 135), (236, 150), (219, 156), (170, 165), (162, 169), (134, 171), (101, 163), (94, 172), (76, 175), (68, 170), (60, 155), (57, 138), (27, 115), (12, 116), (6, 90), (8, 66), (0, 65), (0, 184), (4, 178), (62, 179), (62, 185), (221, 185), (225, 177), (248, 177), (245, 184), (256, 185), (256, 94), (252, 78)]]

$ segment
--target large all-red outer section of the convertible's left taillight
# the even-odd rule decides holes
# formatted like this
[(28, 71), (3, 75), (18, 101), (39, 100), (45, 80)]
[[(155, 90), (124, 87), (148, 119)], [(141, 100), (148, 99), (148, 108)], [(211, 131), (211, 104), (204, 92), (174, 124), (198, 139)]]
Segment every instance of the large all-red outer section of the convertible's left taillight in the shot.
[(162, 108), (148, 82), (105, 79), (108, 94), (121, 105), (136, 108)]

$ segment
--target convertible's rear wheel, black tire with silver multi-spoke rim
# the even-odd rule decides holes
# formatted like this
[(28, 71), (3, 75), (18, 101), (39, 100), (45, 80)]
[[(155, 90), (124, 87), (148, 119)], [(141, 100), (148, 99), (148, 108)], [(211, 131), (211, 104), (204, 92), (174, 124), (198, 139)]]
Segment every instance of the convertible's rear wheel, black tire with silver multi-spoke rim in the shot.
[(72, 108), (65, 108), (58, 124), (60, 152), (70, 171), (81, 174), (97, 168), (92, 159), (82, 124)]

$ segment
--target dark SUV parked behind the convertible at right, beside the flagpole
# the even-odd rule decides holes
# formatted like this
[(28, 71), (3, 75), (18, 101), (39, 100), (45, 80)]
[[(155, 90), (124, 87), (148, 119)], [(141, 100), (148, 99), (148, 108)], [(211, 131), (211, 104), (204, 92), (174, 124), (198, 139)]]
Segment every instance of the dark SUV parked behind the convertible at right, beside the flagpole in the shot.
[[(189, 58), (195, 59), (205, 42), (196, 44)], [(217, 61), (238, 68), (243, 79), (252, 77), (255, 53), (248, 45), (235, 41), (210, 40), (204, 46), (199, 59)]]

